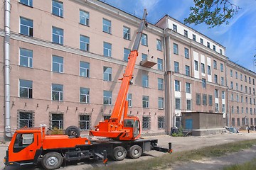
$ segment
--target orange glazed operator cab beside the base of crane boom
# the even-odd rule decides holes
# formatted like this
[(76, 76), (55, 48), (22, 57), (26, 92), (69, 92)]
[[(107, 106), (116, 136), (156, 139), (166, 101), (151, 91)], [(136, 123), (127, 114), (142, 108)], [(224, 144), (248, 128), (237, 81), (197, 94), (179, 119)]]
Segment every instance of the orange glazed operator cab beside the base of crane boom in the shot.
[(127, 117), (124, 119), (124, 129), (129, 129), (132, 132), (134, 139), (138, 139), (140, 137), (140, 124), (139, 118), (137, 117)]

